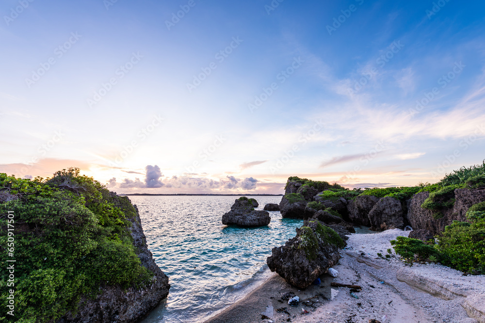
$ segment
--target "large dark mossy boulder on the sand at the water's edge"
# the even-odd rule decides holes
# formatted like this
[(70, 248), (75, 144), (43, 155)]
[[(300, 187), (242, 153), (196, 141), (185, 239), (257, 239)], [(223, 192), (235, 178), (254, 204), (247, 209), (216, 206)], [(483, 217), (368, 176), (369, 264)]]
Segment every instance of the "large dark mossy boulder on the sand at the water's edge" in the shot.
[(291, 285), (306, 288), (340, 259), (345, 242), (339, 234), (317, 220), (305, 221), (296, 236), (275, 247), (268, 267)]

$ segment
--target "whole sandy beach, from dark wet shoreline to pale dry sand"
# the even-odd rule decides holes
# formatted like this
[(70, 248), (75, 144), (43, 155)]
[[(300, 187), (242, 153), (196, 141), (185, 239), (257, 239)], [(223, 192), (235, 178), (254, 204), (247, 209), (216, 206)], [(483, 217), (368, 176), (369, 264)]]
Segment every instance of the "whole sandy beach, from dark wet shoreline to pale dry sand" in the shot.
[[(353, 234), (334, 268), (319, 286), (291, 287), (274, 274), (234, 305), (205, 323), (485, 323), (485, 276), (462, 276), (440, 264), (405, 265), (398, 257), (381, 259), (390, 240), (409, 231)], [(362, 287), (361, 292), (331, 287), (331, 282)], [(300, 297), (288, 305), (291, 293)], [(304, 313), (306, 311), (307, 313)], [(264, 315), (264, 316), (263, 316)], [(267, 318), (266, 318), (267, 317)]]

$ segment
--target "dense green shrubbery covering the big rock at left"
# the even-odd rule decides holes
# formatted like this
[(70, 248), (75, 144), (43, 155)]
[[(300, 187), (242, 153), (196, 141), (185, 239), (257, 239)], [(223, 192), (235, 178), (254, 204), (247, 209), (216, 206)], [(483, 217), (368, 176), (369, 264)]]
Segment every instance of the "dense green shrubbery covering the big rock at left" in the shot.
[[(76, 310), (81, 295), (96, 297), (103, 285), (149, 284), (153, 273), (141, 266), (129, 232), (136, 210), (127, 197), (80, 176), (79, 169), (34, 181), (0, 174), (0, 185), (19, 198), (0, 204), (0, 215), (15, 214), (19, 322), (55, 322)], [(0, 216), (0, 246), (7, 244), (6, 227)], [(1, 252), (0, 262), (6, 260)], [(1, 271), (2, 281), (6, 275)], [(6, 303), (5, 293), (0, 303)]]

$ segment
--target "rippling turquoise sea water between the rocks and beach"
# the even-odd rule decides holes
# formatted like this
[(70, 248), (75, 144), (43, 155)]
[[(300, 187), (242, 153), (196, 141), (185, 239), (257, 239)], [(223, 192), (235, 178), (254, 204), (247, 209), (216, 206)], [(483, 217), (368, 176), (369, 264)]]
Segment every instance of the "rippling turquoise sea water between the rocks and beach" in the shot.
[[(203, 322), (270, 274), (271, 249), (295, 236), (302, 220), (270, 212), (266, 227), (226, 227), (222, 215), (238, 197), (130, 196), (148, 249), (169, 277), (170, 294), (143, 323)], [(259, 210), (281, 197), (255, 197)]]

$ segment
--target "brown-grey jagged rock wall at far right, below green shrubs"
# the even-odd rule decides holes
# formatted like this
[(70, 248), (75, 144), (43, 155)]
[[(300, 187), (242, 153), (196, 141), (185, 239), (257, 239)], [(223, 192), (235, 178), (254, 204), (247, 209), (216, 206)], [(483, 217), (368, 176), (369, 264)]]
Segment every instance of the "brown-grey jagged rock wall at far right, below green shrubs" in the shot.
[(429, 192), (420, 192), (413, 196), (407, 212), (407, 221), (413, 229), (429, 230), (436, 235), (445, 230), (447, 225), (456, 221), (467, 221), (467, 211), (473, 204), (485, 201), (485, 189), (457, 188), (453, 192), (455, 203), (451, 208), (441, 210), (443, 217), (433, 218), (433, 211), (423, 209), (421, 204), (429, 197)]

